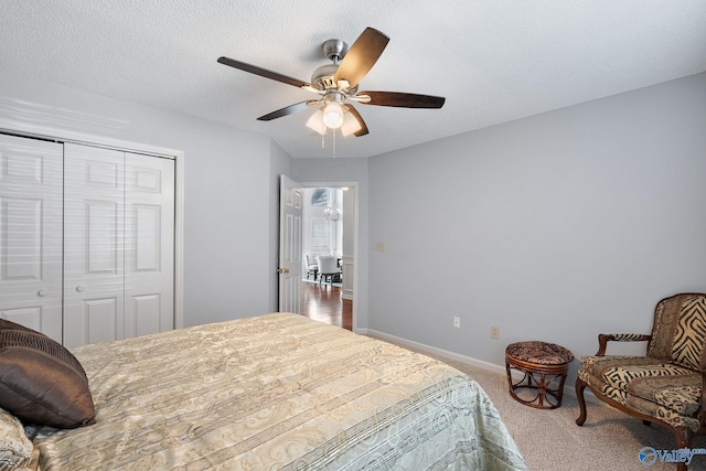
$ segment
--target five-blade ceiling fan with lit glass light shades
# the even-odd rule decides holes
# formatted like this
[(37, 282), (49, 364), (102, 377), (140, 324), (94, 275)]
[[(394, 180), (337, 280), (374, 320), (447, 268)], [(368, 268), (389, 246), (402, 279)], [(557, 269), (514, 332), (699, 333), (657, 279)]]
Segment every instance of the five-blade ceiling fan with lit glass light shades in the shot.
[(349, 49), (341, 40), (322, 44), (323, 53), (333, 64), (317, 68), (311, 83), (271, 72), (229, 57), (218, 57), (221, 64), (249, 72), (265, 78), (313, 92), (320, 97), (287, 106), (257, 118), (260, 121), (289, 116), (308, 107), (317, 107), (307, 126), (323, 135), (327, 129), (341, 129), (343, 136), (368, 133), (363, 117), (349, 101), (363, 105), (393, 106), (398, 108), (441, 108), (446, 98), (400, 92), (359, 92), (359, 84), (381, 56), (389, 38), (373, 28), (365, 31)]

